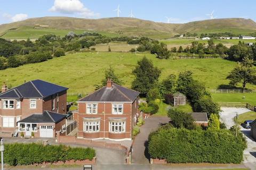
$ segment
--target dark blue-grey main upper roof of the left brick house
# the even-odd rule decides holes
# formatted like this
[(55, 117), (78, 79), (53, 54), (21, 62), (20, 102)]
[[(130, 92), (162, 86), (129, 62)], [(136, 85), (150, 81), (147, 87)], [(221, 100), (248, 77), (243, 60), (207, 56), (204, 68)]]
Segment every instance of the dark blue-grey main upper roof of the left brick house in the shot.
[(1, 93), (0, 98), (45, 98), (67, 89), (43, 80), (33, 80)]

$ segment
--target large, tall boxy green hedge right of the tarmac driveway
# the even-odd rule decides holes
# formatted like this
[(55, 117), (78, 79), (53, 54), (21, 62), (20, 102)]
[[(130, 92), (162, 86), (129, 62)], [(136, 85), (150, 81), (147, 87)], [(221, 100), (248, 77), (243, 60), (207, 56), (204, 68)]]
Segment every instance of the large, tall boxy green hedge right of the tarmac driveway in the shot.
[(234, 163), (243, 160), (246, 141), (229, 130), (187, 130), (160, 128), (149, 135), (151, 158), (167, 163)]

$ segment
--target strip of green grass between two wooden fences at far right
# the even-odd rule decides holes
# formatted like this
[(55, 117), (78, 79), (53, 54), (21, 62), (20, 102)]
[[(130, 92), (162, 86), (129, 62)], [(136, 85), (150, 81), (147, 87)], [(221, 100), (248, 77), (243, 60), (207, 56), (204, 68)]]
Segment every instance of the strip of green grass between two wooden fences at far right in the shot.
[[(256, 105), (256, 93), (252, 94), (211, 94), (214, 101), (218, 102), (242, 102)], [(243, 97), (245, 98), (243, 99)]]

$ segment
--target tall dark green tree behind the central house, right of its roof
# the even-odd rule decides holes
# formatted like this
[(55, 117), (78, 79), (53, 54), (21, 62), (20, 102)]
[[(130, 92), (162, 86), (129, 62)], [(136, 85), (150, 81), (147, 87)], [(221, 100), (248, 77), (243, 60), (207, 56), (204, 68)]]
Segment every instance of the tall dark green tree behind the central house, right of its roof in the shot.
[(142, 95), (147, 95), (149, 89), (158, 81), (161, 70), (154, 67), (153, 63), (148, 58), (143, 57), (138, 61), (138, 65), (132, 71), (135, 79), (132, 82), (132, 89), (139, 91)]

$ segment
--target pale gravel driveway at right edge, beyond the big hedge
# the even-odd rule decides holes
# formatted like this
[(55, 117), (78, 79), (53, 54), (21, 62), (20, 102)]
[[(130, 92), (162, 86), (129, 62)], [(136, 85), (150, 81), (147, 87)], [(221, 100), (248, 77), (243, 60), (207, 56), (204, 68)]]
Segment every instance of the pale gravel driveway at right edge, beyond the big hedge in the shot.
[[(250, 112), (247, 108), (222, 107), (221, 109), (221, 121), (227, 125), (228, 129), (235, 124), (233, 118), (236, 116), (236, 112), (238, 115)], [(250, 130), (244, 129), (242, 126), (240, 126), (240, 128), (247, 141), (247, 148), (244, 150), (243, 163), (251, 169), (256, 169), (256, 142), (251, 138)]]

